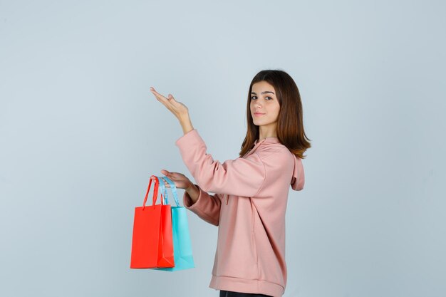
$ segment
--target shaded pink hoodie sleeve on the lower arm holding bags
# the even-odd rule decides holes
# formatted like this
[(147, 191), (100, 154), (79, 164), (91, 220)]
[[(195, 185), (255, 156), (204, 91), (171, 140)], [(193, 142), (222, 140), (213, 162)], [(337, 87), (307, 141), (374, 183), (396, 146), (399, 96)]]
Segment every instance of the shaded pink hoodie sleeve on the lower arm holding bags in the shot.
[(197, 214), (197, 216), (203, 219), (205, 222), (218, 226), (220, 219), (220, 207), (222, 205), (220, 194), (209, 195), (197, 184), (195, 185), (199, 189), (197, 202), (192, 202), (190, 195), (185, 192), (183, 195), (183, 204), (187, 209)]

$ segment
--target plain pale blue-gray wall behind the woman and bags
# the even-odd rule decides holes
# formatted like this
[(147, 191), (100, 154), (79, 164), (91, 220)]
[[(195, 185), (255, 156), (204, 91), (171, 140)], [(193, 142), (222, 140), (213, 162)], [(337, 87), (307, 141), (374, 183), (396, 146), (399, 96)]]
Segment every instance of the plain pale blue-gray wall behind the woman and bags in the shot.
[[(251, 78), (296, 81), (312, 140), (290, 190), (285, 297), (446, 294), (444, 1), (0, 1), (0, 295), (209, 296), (195, 269), (130, 269), (151, 174), (193, 180), (190, 109), (215, 160), (246, 133)], [(179, 191), (182, 195), (183, 190)]]

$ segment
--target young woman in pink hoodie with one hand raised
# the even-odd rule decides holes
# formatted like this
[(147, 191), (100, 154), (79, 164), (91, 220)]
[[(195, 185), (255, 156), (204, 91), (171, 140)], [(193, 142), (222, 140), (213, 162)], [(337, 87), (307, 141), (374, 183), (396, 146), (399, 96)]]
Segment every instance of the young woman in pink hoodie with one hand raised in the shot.
[(296, 83), (279, 70), (254, 76), (247, 100), (247, 135), (239, 157), (223, 163), (207, 153), (187, 107), (170, 94), (165, 98), (151, 91), (182, 125), (184, 135), (175, 145), (197, 184), (179, 172), (161, 172), (185, 189), (187, 209), (219, 227), (209, 287), (219, 290), (220, 297), (282, 296), (286, 203), (290, 186), (304, 188), (301, 159), (311, 147)]

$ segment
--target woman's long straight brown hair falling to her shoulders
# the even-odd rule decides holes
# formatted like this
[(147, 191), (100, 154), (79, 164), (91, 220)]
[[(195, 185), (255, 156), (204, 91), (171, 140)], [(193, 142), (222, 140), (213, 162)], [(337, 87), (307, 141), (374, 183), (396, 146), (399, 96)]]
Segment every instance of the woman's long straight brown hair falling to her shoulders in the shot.
[(304, 152), (311, 147), (311, 144), (304, 131), (301, 95), (293, 78), (281, 70), (260, 71), (254, 76), (251, 85), (249, 85), (247, 102), (248, 130), (242, 143), (242, 149), (239, 152), (240, 157), (249, 152), (255, 140), (259, 139), (259, 126), (254, 125), (250, 109), (252, 85), (259, 81), (266, 81), (276, 90), (277, 100), (280, 105), (276, 130), (279, 142), (288, 147), (294, 155), (304, 159), (306, 157)]

